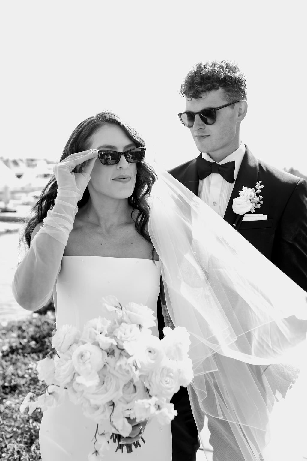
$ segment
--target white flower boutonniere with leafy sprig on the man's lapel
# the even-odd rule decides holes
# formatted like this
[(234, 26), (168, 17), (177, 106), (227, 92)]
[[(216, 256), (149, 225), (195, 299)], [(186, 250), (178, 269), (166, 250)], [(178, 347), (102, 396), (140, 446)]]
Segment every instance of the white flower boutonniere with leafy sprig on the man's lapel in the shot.
[(256, 190), (250, 187), (243, 187), (239, 191), (239, 196), (233, 199), (232, 210), (239, 215), (233, 224), (235, 227), (238, 221), (243, 219), (245, 213), (255, 213), (255, 209), (261, 207), (263, 197), (262, 195), (257, 195), (261, 193), (261, 189), (264, 187), (261, 186), (261, 183), (262, 181), (256, 183)]

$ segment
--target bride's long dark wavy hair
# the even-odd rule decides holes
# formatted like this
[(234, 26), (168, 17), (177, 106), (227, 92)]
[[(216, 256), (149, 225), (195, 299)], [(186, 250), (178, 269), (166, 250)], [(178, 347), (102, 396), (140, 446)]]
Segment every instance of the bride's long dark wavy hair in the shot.
[[(89, 117), (81, 122), (70, 135), (69, 140), (64, 147), (63, 154), (60, 158), (64, 160), (70, 154), (82, 152), (88, 149), (90, 138), (93, 134), (106, 124), (118, 125), (127, 134), (127, 136), (135, 143), (136, 147), (145, 147), (145, 141), (139, 136), (139, 133), (134, 128), (123, 122), (113, 112), (100, 112), (93, 117)], [(156, 174), (152, 168), (145, 163), (144, 160), (137, 164), (137, 175), (133, 194), (128, 198), (128, 203), (133, 207), (131, 216), (134, 210), (138, 210), (135, 219), (135, 229), (148, 242), (151, 242), (147, 231), (147, 223), (149, 219), (150, 207), (146, 201), (146, 197), (150, 194), (151, 188), (156, 181)], [(47, 211), (54, 206), (54, 200), (57, 197), (58, 184), (55, 176), (47, 183), (46, 187), (41, 191), (41, 196), (35, 206), (32, 208), (32, 216), (30, 217), (26, 228), (21, 236), (20, 242), (24, 240), (28, 247), (32, 232), (36, 225), (46, 218)], [(86, 188), (82, 198), (78, 201), (78, 207), (83, 207), (89, 199), (89, 191)], [(152, 251), (153, 259), (154, 250)]]

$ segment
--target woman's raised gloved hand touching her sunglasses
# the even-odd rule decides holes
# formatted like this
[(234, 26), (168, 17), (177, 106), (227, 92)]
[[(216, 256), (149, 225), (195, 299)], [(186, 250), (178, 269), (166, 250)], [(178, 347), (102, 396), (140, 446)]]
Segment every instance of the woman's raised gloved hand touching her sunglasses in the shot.
[(71, 154), (53, 167), (58, 189), (72, 190), (83, 195), (98, 156), (98, 149)]

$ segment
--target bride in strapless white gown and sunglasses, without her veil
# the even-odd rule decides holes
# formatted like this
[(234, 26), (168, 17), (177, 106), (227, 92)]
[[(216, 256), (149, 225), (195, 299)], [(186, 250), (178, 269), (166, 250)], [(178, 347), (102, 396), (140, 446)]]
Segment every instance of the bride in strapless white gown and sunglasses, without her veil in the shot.
[[(21, 306), (36, 310), (53, 292), (57, 327), (78, 329), (101, 315), (102, 296), (156, 312), (161, 271), (147, 232), (145, 199), (155, 175), (144, 155), (138, 133), (110, 112), (74, 130), (25, 230), (30, 248), (13, 282)], [(152, 333), (159, 336), (157, 326)], [(134, 421), (127, 443), (139, 440), (140, 426), (145, 423)], [(87, 460), (95, 429), (96, 423), (69, 401), (48, 409), (40, 428), (42, 460)], [(146, 444), (141, 442), (129, 459), (171, 460), (170, 426), (152, 420), (144, 437)], [(109, 446), (108, 459), (125, 459), (127, 453), (115, 454), (116, 445)]]

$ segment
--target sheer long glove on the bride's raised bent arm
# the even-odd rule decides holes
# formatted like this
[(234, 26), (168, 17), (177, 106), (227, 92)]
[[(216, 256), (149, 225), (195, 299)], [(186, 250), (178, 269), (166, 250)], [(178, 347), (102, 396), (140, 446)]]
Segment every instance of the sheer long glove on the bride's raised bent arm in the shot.
[[(77, 203), (90, 180), (96, 158), (97, 149), (92, 149), (72, 154), (53, 168), (58, 183), (54, 207), (48, 211), (44, 225), (33, 238), (12, 283), (13, 295), (25, 309), (39, 309), (52, 294), (78, 211)], [(81, 165), (83, 171), (80, 171)], [(75, 169), (80, 172), (74, 173)]]

